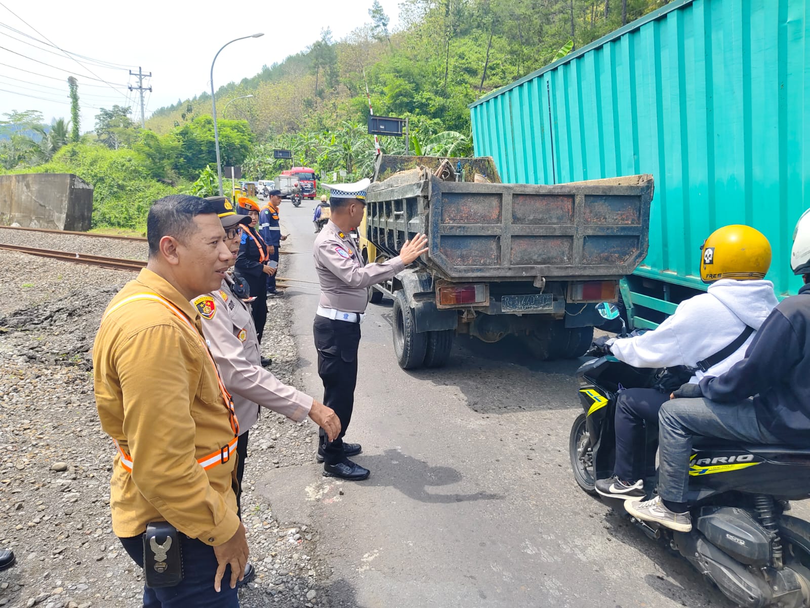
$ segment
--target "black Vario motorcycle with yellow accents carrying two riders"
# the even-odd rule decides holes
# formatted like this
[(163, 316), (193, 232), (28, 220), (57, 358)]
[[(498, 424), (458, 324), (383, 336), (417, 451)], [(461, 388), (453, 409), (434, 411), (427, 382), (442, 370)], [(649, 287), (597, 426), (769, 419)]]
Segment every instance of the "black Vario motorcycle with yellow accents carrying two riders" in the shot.
[[(606, 319), (618, 316), (613, 305), (598, 310)], [(616, 396), (626, 388), (652, 387), (660, 371), (636, 369), (610, 355), (579, 368), (583, 412), (573, 422), (569, 453), (582, 490), (595, 495), (596, 480), (613, 473)], [(648, 447), (654, 439), (648, 438)], [(786, 515), (789, 501), (810, 497), (810, 449), (701, 438), (690, 462), (692, 531), (628, 515), (631, 522), (667, 542), (739, 606), (810, 606), (810, 523)], [(654, 479), (645, 487), (649, 497)], [(604, 500), (625, 512), (622, 500)]]

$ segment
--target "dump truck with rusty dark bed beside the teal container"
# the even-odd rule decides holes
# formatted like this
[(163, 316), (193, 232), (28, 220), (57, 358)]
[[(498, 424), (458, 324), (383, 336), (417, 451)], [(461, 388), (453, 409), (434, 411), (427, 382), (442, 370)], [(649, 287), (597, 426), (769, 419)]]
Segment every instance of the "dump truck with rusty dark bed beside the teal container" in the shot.
[(650, 175), (500, 181), (490, 157), (378, 159), (361, 255), (383, 261), (417, 233), (428, 236), (415, 267), (370, 292), (371, 302), (394, 300), (403, 369), (444, 366), (458, 334), (514, 335), (536, 358), (579, 357), (603, 323), (595, 305), (616, 302), (619, 280), (644, 259)]

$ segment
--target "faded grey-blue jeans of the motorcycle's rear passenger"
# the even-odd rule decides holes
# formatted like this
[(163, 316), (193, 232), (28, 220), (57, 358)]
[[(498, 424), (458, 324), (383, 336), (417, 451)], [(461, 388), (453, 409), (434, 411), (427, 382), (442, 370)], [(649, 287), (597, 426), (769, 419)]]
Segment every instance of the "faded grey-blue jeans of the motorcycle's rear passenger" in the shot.
[(659, 412), (659, 496), (685, 503), (689, 458), (695, 437), (740, 443), (780, 442), (757, 421), (753, 401), (716, 403), (708, 399), (673, 399)]

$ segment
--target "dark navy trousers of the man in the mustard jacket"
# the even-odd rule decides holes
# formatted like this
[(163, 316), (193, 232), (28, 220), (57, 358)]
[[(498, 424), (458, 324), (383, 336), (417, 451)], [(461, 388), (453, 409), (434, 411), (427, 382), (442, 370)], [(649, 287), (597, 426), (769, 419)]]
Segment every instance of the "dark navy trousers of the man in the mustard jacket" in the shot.
[[(143, 568), (143, 536), (119, 538), (130, 558)], [(214, 548), (180, 534), (183, 580), (176, 587), (143, 588), (143, 608), (239, 608), (231, 589), (231, 567), (225, 568), (220, 593), (214, 590), (217, 561)]]

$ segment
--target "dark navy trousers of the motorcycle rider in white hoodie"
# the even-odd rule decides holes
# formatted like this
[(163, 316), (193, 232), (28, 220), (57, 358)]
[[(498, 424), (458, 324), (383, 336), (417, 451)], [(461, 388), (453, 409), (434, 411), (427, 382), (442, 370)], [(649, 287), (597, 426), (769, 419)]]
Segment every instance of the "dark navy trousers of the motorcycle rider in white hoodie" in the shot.
[(625, 482), (655, 474), (658, 413), (669, 395), (654, 388), (628, 388), (616, 397), (616, 464), (613, 473)]

